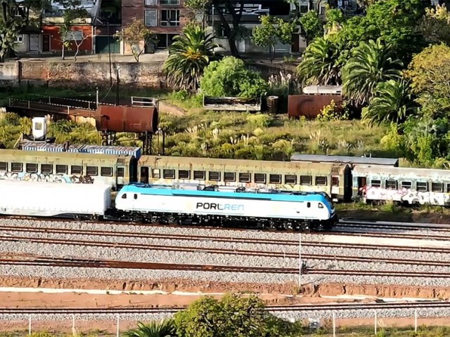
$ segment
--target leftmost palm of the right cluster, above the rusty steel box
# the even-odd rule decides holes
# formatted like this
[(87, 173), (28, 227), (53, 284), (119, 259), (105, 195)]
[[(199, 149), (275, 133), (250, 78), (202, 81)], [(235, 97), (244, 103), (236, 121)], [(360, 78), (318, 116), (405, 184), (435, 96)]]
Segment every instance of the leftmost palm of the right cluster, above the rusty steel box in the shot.
[(338, 84), (340, 78), (338, 57), (335, 44), (326, 38), (318, 37), (304, 51), (297, 72), (307, 85)]

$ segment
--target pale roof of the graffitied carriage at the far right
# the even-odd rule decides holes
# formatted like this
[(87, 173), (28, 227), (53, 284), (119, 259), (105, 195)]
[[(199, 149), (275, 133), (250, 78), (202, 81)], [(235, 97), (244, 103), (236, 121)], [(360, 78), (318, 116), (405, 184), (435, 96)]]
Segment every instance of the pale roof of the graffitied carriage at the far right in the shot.
[(355, 165), (353, 176), (380, 176), (389, 178), (434, 178), (450, 180), (449, 170), (420, 169), (413, 167), (386, 167), (376, 165)]

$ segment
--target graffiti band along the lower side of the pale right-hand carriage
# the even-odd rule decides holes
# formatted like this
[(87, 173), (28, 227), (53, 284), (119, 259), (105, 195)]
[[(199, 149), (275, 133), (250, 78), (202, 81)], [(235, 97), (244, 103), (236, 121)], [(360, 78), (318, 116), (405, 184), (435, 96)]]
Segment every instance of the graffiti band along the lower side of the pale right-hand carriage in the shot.
[(450, 194), (444, 192), (420, 192), (409, 188), (390, 190), (383, 187), (362, 187), (364, 197), (368, 200), (386, 200), (408, 202), (409, 204), (450, 205)]

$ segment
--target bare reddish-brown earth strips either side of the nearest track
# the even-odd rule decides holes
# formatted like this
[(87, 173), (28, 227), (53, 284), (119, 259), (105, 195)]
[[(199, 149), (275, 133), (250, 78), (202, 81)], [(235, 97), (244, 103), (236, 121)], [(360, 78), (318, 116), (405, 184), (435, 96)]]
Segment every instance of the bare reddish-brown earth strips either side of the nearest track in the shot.
[[(349, 302), (359, 300), (371, 302), (375, 298), (449, 298), (449, 289), (420, 288), (413, 286), (371, 286), (371, 285), (306, 285), (302, 294), (297, 296), (294, 292), (298, 288), (295, 284), (252, 285), (252, 284), (213, 284), (211, 282), (194, 283), (190, 280), (162, 280), (159, 282), (133, 282), (89, 279), (14, 279), (0, 278), (2, 287), (30, 287), (34, 289), (98, 289), (131, 291), (120, 294), (91, 294), (91, 293), (27, 293), (27, 292), (0, 292), (1, 306), (8, 308), (120, 308), (120, 307), (166, 307), (189, 305), (201, 296), (209, 295), (220, 298), (218, 293), (226, 291), (256, 291), (259, 297), (268, 305), (288, 305), (298, 303), (330, 303)], [(139, 294), (133, 291), (161, 291), (166, 293)], [(181, 291), (189, 294), (174, 294)], [(347, 298), (345, 296), (367, 296), (365, 299)], [(342, 296), (340, 298), (327, 298), (327, 296)], [(372, 297), (370, 297), (372, 296)], [(314, 317), (311, 317), (314, 319)], [(2, 331), (28, 331), (29, 322), (0, 322)], [(330, 326), (331, 322), (322, 322)], [(385, 319), (378, 317), (379, 326), (411, 326), (411, 319)], [(373, 326), (373, 319), (339, 319), (337, 326)], [(418, 325), (446, 325), (448, 319), (418, 319)], [(120, 331), (125, 331), (136, 325), (136, 322), (120, 321)], [(75, 322), (75, 332), (89, 333), (89, 331), (103, 331), (101, 334), (116, 333), (116, 322)], [(32, 322), (32, 331), (57, 331), (72, 333), (72, 322)]]

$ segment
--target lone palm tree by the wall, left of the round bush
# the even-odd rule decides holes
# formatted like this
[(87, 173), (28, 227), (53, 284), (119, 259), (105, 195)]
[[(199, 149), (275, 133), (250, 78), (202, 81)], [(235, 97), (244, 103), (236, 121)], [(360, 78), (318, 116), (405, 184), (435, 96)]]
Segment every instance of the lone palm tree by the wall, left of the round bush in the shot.
[(168, 84), (176, 89), (197, 90), (216, 47), (212, 35), (206, 34), (200, 25), (186, 25), (183, 34), (174, 37), (169, 47), (169, 57), (163, 67)]

